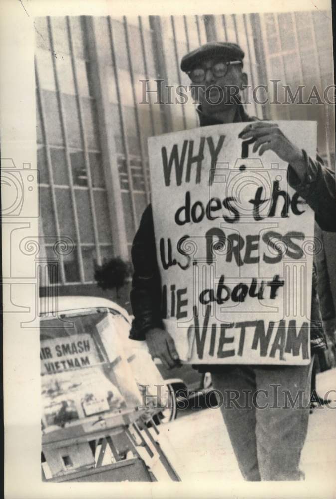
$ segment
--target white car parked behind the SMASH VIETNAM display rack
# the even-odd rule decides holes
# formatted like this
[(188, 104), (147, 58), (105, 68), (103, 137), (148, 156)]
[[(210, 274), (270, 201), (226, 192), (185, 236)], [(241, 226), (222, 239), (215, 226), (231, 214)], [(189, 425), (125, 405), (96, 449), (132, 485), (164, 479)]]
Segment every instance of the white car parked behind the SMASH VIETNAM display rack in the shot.
[[(88, 316), (90, 313), (107, 310), (111, 316), (111, 324), (115, 324), (115, 326), (111, 325), (111, 328), (118, 327), (123, 348), (127, 352), (128, 361), (138, 386), (153, 386), (161, 383), (164, 385), (166, 390), (163, 397), (165, 409), (154, 416), (157, 424), (174, 420), (177, 417), (178, 408), (183, 405), (185, 399), (190, 401), (211, 390), (209, 373), (200, 374), (191, 365), (186, 364), (168, 370), (159, 359), (154, 359), (153, 362), (145, 341), (128, 338), (133, 317), (123, 307), (111, 300), (91, 296), (60, 296), (55, 304), (50, 304), (47, 299), (41, 298), (40, 310), (42, 311), (40, 312), (42, 326), (44, 321), (50, 320), (50, 318), (66, 321), (66, 318), (70, 316)], [(85, 327), (88, 326), (85, 325)], [(43, 331), (43, 327), (41, 331)], [(113, 334), (112, 329), (111, 332)], [(183, 407), (185, 407), (185, 403)]]

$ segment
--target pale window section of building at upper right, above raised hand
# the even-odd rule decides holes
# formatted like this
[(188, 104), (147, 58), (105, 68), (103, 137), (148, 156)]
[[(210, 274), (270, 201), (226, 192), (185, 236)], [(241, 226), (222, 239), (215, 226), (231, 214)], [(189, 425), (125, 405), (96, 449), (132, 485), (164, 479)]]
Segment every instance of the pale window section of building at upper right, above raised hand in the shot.
[[(315, 86), (323, 99), (323, 89), (332, 84), (331, 20), (323, 11), (262, 14), (261, 38), (265, 49), (268, 80), (279, 79), (279, 89), (288, 85), (295, 95), (298, 85), (304, 85), (303, 101), (307, 102)], [(322, 35), (323, 33), (323, 35)], [(270, 82), (265, 82), (270, 84)], [(271, 85), (272, 88), (272, 85)], [(272, 98), (272, 95), (269, 95)], [(282, 101), (284, 93), (278, 93)], [(270, 105), (272, 119), (316, 120), (318, 122), (318, 149), (328, 162), (334, 151), (332, 134), (335, 119), (328, 104), (312, 99), (305, 104)]]

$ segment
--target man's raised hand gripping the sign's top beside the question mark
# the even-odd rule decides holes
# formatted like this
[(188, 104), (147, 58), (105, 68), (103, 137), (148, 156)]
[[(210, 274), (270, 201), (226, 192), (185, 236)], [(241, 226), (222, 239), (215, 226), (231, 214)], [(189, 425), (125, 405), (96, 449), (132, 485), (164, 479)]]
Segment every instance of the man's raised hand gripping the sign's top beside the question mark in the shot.
[(295, 146), (280, 130), (276, 123), (256, 121), (247, 125), (239, 134), (239, 138), (246, 140), (253, 138), (252, 152), (259, 149), (259, 156), (270, 149), (280, 159), (290, 163), (302, 180), (305, 176), (305, 162), (301, 149)]

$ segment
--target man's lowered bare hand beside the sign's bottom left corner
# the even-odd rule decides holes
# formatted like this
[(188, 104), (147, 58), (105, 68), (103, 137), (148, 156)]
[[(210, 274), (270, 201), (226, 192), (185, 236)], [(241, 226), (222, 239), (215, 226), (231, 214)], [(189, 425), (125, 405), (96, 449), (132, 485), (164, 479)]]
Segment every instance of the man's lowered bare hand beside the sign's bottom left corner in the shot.
[(175, 342), (168, 331), (155, 327), (146, 332), (146, 343), (152, 359), (160, 359), (167, 369), (181, 365)]

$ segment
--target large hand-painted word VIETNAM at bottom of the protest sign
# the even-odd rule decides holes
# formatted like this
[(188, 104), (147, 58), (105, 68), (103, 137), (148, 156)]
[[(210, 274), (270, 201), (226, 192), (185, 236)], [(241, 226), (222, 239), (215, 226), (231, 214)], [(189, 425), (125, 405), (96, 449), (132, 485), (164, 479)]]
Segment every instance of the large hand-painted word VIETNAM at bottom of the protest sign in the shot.
[[(203, 359), (205, 345), (208, 347), (206, 356), (216, 359), (237, 355), (243, 357), (247, 343), (250, 345), (248, 348), (256, 350), (260, 357), (275, 358), (278, 356), (279, 360), (285, 361), (285, 355), (290, 354), (294, 357), (301, 355), (302, 359), (309, 359), (308, 322), (303, 322), (300, 328), (295, 319), (289, 320), (288, 323), (281, 319), (277, 323), (269, 321), (267, 324), (264, 320), (244, 320), (234, 324), (216, 322), (209, 325), (210, 313), (211, 305), (208, 305), (203, 324), (200, 325), (199, 312), (194, 306), (194, 324), (189, 326), (189, 329), (195, 331), (195, 344), (199, 359)], [(233, 343), (237, 344), (236, 348), (232, 348)]]

